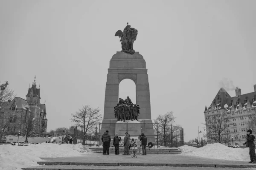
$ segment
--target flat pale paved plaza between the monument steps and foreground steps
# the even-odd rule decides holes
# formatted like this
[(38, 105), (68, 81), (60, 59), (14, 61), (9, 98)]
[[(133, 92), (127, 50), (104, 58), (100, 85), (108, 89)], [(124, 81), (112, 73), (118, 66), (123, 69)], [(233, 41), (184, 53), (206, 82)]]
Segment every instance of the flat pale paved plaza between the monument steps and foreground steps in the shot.
[[(91, 153), (77, 157), (41, 158), (44, 161), (56, 162), (93, 162), (93, 163), (145, 163), (145, 164), (249, 164), (247, 161), (228, 161), (221, 159), (208, 159), (203, 157), (185, 156), (183, 154), (148, 154), (137, 155), (138, 158), (120, 155), (102, 155)], [(248, 160), (250, 161), (250, 160)]]

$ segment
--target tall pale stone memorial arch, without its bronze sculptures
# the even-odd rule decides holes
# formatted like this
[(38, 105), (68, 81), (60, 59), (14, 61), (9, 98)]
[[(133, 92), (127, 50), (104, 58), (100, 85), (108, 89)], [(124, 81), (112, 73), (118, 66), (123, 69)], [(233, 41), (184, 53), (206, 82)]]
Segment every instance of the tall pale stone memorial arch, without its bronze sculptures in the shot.
[[(109, 131), (112, 139), (115, 133), (119, 133), (119, 136), (125, 136), (125, 132), (128, 131), (132, 137), (145, 133), (148, 142), (154, 142), (147, 71), (145, 59), (139, 52), (128, 54), (118, 51), (113, 55), (108, 68), (104, 115), (100, 135), (106, 130)], [(117, 122), (114, 116), (113, 110), (119, 100), (119, 83), (123, 79), (131, 79), (136, 85), (136, 104), (140, 105), (139, 123), (137, 121), (137, 123), (134, 121)]]

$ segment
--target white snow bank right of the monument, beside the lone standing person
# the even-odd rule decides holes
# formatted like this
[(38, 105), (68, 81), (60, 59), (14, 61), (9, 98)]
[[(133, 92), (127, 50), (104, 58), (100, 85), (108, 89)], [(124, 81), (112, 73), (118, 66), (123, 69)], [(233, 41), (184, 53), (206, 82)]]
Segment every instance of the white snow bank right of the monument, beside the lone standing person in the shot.
[(189, 156), (200, 156), (204, 158), (223, 159), (231, 161), (250, 161), (249, 147), (230, 148), (223, 144), (207, 144), (204, 147), (192, 147), (184, 145), (179, 147), (181, 154)]

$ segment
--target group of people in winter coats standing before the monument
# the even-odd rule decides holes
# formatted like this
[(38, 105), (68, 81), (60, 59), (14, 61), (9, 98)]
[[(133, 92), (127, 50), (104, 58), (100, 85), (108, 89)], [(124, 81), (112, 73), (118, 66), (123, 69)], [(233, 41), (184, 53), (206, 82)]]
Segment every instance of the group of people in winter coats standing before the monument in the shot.
[[(103, 142), (103, 155), (109, 155), (109, 147), (111, 142), (111, 136), (108, 134), (108, 130), (104, 132), (102, 135), (102, 142)], [(113, 138), (113, 145), (115, 147), (115, 154), (119, 155), (119, 142), (121, 141), (121, 137), (118, 136), (118, 133), (115, 133)], [(131, 139), (131, 136), (128, 132), (125, 133), (124, 138), (124, 153), (122, 155), (131, 155), (130, 148), (137, 147), (139, 151), (139, 155), (147, 155), (146, 151), (147, 146), (147, 137), (144, 133), (138, 136), (138, 139), (135, 140), (134, 138)]]

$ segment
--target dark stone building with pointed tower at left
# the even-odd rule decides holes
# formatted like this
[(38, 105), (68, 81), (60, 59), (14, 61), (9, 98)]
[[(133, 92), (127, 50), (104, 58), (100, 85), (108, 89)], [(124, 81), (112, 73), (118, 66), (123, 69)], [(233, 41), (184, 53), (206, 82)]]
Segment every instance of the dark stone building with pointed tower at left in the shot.
[(26, 119), (32, 119), (37, 122), (37, 136), (45, 136), (47, 132), (46, 106), (40, 102), (40, 88), (37, 88), (36, 82), (32, 83), (26, 94), (26, 100), (20, 97), (15, 97), (12, 101), (1, 105), (0, 109), (0, 130), (5, 135), (20, 135), (23, 133), (26, 126)]

